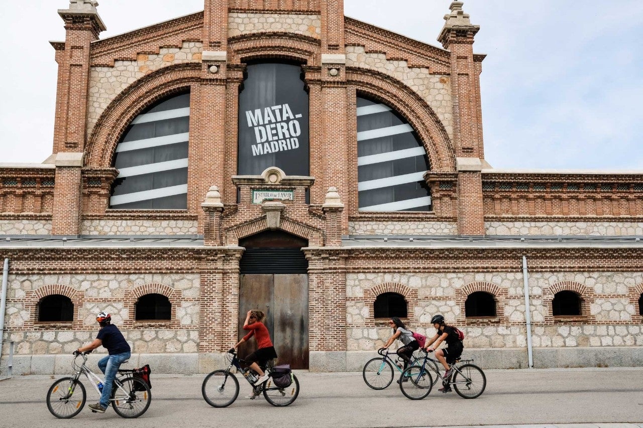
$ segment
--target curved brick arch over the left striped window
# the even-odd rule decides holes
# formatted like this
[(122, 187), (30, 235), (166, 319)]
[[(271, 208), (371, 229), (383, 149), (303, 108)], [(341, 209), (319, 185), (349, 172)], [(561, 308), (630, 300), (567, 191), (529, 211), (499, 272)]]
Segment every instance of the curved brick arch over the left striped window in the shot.
[(201, 64), (183, 63), (145, 75), (112, 100), (96, 121), (84, 165), (111, 168), (114, 150), (129, 123), (146, 107), (199, 82)]

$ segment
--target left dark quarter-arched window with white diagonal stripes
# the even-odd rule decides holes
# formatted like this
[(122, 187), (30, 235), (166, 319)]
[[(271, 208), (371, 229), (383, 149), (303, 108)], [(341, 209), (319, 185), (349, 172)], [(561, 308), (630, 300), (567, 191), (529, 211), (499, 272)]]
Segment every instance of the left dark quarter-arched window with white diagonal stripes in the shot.
[(158, 102), (131, 121), (116, 146), (109, 208), (186, 210), (190, 94)]

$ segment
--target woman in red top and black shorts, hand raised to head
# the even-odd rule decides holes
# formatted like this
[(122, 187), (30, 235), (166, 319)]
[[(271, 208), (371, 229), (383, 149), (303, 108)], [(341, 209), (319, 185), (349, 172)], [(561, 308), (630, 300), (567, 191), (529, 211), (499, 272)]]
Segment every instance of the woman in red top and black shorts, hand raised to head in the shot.
[[(259, 386), (268, 380), (267, 373), (264, 373), (264, 371), (261, 370), (257, 362), (265, 365), (268, 360), (277, 357), (273, 342), (270, 340), (268, 329), (264, 323), (262, 323), (265, 317), (266, 314), (261, 310), (249, 310), (248, 314), (246, 314), (246, 321), (243, 324), (243, 329), (249, 330), (249, 333), (235, 344), (235, 349), (237, 349), (240, 344), (248, 341), (253, 335), (255, 336), (255, 340), (257, 340), (257, 344), (259, 346), (258, 349), (244, 359), (244, 361), (249, 364), (249, 367), (259, 375), (259, 379), (255, 382), (255, 386)], [(254, 391), (246, 396), (246, 398), (255, 397), (257, 397), (257, 395), (255, 395)]]

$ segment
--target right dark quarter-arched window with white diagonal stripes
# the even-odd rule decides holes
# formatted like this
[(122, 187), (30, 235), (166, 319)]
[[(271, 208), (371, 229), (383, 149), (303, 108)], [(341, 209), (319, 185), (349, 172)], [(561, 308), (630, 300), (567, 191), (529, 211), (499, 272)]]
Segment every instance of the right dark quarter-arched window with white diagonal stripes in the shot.
[(430, 211), (426, 150), (388, 105), (358, 96), (359, 211)]

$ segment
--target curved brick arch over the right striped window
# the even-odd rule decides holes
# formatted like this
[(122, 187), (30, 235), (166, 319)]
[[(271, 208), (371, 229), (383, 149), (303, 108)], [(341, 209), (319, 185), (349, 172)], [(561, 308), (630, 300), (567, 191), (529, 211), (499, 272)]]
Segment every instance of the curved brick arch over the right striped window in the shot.
[(346, 78), (358, 92), (382, 100), (408, 120), (424, 143), (431, 171), (455, 171), (455, 150), (442, 121), (410, 87), (379, 71), (357, 67), (347, 67)]

